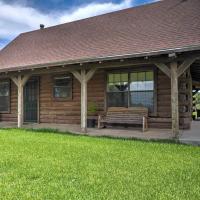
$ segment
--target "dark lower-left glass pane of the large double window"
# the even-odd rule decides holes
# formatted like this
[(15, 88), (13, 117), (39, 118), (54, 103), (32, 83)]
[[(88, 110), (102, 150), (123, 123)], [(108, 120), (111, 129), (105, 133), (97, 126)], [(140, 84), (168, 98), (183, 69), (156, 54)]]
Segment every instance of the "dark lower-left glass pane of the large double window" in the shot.
[(127, 92), (111, 92), (107, 94), (108, 107), (127, 107), (128, 93)]

